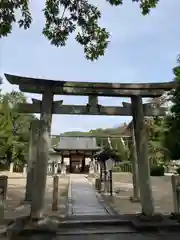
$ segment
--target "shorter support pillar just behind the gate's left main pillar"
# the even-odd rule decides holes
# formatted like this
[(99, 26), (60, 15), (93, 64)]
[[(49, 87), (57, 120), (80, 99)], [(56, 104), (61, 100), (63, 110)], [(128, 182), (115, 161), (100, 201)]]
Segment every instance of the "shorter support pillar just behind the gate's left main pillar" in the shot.
[(32, 188), (34, 182), (34, 171), (37, 161), (37, 150), (39, 142), (39, 120), (33, 120), (30, 126), (30, 139), (29, 139), (29, 156), (27, 166), (27, 180), (26, 180), (26, 193), (25, 201), (32, 200)]

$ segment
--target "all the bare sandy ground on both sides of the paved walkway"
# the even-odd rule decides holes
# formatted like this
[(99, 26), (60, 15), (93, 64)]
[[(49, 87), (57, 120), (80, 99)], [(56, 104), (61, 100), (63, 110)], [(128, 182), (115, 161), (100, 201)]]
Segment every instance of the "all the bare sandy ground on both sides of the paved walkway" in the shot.
[[(5, 202), (5, 218), (15, 218), (17, 215), (28, 214), (28, 205), (20, 206), (25, 196), (26, 178), (22, 174), (1, 172), (1, 175), (8, 176), (8, 192)], [(156, 212), (169, 214), (173, 211), (171, 177), (151, 177), (153, 197)], [(68, 203), (69, 176), (59, 177), (59, 210), (52, 212), (52, 176), (47, 177), (47, 191), (45, 197), (45, 214), (65, 216)], [(113, 188), (118, 192), (116, 196), (106, 197), (106, 200), (121, 214), (139, 213), (141, 206), (139, 203), (132, 203), (129, 197), (132, 196), (132, 175), (130, 173), (114, 173)]]

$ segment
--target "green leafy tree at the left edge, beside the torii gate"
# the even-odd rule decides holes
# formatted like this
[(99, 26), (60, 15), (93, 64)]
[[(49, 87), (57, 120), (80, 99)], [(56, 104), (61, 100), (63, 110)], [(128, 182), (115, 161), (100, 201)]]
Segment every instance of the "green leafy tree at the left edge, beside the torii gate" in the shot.
[(29, 125), (33, 115), (16, 111), (18, 103), (26, 102), (20, 92), (1, 94), (0, 97), (0, 163), (22, 165), (27, 160)]

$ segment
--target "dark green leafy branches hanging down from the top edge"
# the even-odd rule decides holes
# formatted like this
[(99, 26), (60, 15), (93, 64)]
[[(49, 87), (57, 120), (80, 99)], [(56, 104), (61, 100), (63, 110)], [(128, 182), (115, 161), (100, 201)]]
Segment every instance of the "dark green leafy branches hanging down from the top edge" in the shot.
[[(112, 6), (123, 4), (123, 0), (106, 0)], [(0, 1), (0, 38), (12, 31), (14, 23), (28, 29), (32, 23), (29, 0)], [(84, 48), (87, 59), (95, 60), (103, 56), (108, 45), (109, 33), (99, 25), (101, 12), (88, 0), (45, 0), (43, 13), (44, 36), (51, 44), (65, 46), (70, 34), (76, 32), (75, 39)], [(143, 15), (155, 8), (159, 0), (132, 0), (138, 3)], [(18, 13), (18, 14), (17, 14)], [(21, 16), (19, 19), (17, 16)]]

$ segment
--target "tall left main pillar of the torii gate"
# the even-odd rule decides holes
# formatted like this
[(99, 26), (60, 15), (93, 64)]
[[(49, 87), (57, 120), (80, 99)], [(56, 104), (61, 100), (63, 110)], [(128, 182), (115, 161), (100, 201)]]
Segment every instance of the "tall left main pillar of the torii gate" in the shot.
[(35, 183), (33, 188), (31, 217), (40, 219), (43, 217), (43, 209), (46, 193), (47, 164), (51, 144), (53, 93), (50, 86), (46, 87), (41, 103), (40, 131), (38, 144), (38, 158), (35, 171)]

